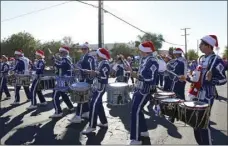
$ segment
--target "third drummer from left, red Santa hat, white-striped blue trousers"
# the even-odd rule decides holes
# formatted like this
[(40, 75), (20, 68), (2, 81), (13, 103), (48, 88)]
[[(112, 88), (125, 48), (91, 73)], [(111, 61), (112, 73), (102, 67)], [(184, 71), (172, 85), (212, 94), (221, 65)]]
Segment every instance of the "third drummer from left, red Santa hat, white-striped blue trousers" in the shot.
[(36, 53), (37, 62), (34, 63), (33, 70), (36, 70), (36, 76), (35, 79), (32, 82), (31, 87), (31, 105), (27, 108), (28, 110), (36, 109), (37, 108), (37, 101), (36, 101), (36, 94), (38, 95), (38, 98), (40, 100), (40, 105), (46, 105), (47, 102), (42, 94), (41, 90), (37, 90), (39, 85), (39, 79), (44, 74), (44, 52), (42, 50), (37, 50)]

